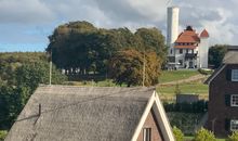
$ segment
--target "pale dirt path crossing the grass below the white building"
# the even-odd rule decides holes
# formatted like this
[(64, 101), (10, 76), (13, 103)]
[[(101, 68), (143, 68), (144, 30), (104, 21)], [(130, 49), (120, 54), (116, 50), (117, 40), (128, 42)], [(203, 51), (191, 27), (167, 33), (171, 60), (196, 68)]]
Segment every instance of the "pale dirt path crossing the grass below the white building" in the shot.
[(208, 77), (209, 76), (199, 74), (199, 75), (188, 77), (187, 79), (181, 79), (181, 80), (169, 81), (169, 82), (161, 82), (161, 84), (159, 84), (159, 86), (174, 86), (176, 84), (180, 85), (180, 84), (186, 84), (186, 82), (202, 80), (202, 79), (208, 78)]

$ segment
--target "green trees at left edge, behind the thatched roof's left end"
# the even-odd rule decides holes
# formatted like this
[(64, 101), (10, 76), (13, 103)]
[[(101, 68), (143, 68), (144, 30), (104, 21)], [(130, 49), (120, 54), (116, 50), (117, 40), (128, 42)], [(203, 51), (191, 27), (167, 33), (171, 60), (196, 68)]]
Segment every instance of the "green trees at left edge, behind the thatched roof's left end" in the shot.
[[(53, 84), (67, 78), (55, 66)], [(0, 53), (0, 130), (8, 130), (39, 84), (49, 84), (49, 57), (44, 52)]]

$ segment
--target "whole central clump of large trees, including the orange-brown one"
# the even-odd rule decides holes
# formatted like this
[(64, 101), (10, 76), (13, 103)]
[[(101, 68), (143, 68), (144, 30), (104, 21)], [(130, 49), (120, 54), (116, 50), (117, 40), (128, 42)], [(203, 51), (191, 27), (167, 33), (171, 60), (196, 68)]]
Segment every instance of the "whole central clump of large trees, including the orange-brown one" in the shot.
[[(56, 27), (49, 40), (47, 51), (52, 53), (54, 64), (65, 69), (67, 75), (93, 73), (111, 76), (118, 84), (124, 81), (130, 72), (135, 73), (128, 77), (130, 80), (135, 79), (135, 76), (142, 77), (145, 60), (146, 68), (149, 68), (146, 72), (155, 73), (167, 60), (164, 37), (155, 27), (138, 28), (132, 33), (127, 27), (105, 29), (88, 22), (70, 22)], [(148, 66), (150, 64), (156, 66), (155, 69)], [(146, 79), (150, 82), (146, 82), (147, 86), (155, 84), (148, 77)], [(142, 84), (138, 79), (127, 82), (129, 86)]]

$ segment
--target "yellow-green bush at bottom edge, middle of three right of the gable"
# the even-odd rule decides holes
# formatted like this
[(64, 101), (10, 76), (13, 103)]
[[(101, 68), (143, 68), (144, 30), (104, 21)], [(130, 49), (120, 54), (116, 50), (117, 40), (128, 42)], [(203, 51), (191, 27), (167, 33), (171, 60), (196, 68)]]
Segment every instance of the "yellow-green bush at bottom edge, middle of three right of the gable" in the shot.
[(215, 136), (211, 131), (201, 128), (195, 133), (194, 141), (215, 141)]

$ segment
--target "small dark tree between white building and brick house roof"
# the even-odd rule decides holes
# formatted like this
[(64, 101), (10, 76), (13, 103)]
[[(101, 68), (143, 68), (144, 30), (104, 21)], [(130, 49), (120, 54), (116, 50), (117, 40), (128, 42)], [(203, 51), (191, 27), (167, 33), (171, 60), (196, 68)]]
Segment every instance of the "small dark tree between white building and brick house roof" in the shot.
[(225, 53), (227, 52), (227, 44), (215, 44), (209, 49), (209, 64), (217, 68), (223, 61)]

